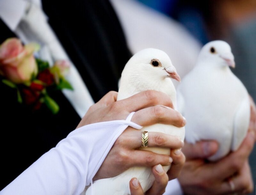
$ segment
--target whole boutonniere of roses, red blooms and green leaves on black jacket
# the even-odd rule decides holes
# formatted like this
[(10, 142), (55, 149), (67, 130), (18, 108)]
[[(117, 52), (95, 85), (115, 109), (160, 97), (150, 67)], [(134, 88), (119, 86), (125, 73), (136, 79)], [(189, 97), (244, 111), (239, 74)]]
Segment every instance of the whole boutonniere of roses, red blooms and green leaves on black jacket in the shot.
[(65, 79), (70, 64), (58, 60), (50, 67), (49, 63), (34, 57), (40, 46), (37, 43), (22, 45), (17, 38), (9, 38), (0, 45), (0, 80), (17, 90), (20, 104), (33, 110), (45, 104), (52, 113), (59, 112), (59, 105), (50, 96), (51, 90), (73, 90)]

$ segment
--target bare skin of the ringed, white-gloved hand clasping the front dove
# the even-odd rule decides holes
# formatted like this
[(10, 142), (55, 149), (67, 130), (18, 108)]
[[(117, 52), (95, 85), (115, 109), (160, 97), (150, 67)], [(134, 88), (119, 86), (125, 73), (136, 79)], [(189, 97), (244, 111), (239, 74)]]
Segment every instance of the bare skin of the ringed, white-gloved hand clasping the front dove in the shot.
[[(120, 101), (116, 101), (116, 98), (117, 92), (115, 91), (110, 91), (102, 97), (99, 102), (90, 107), (77, 128), (96, 122), (125, 120), (131, 112), (136, 112), (132, 117), (132, 122), (141, 126), (163, 123), (183, 127), (186, 124), (179, 112), (159, 106), (173, 108), (171, 99), (162, 92), (148, 90)], [(168, 180), (176, 178), (185, 163), (185, 156), (180, 151), (184, 142), (176, 136), (160, 132), (149, 132), (148, 137), (148, 147), (169, 148), (171, 158), (168, 155), (137, 150), (141, 145), (141, 132), (128, 127), (116, 140), (93, 180), (119, 175), (134, 166), (153, 167), (152, 171), (156, 180), (147, 194), (163, 194)], [(180, 152), (175, 154), (177, 150)], [(167, 173), (159, 174), (155, 169), (156, 165), (166, 166), (171, 163), (172, 167)], [(131, 178), (131, 182), (134, 179)], [(131, 191), (133, 195), (137, 195), (141, 194), (142, 189), (139, 184), (138, 186), (132, 185)]]

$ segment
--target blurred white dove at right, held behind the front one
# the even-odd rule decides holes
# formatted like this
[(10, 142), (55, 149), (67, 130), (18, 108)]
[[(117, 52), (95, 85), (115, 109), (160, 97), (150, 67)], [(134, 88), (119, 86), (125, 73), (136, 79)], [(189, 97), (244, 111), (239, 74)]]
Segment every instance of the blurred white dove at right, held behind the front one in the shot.
[(235, 61), (228, 43), (209, 42), (177, 89), (178, 110), (187, 120), (185, 139), (193, 144), (216, 140), (219, 150), (212, 161), (235, 151), (249, 126), (248, 92), (229, 66), (234, 68)]

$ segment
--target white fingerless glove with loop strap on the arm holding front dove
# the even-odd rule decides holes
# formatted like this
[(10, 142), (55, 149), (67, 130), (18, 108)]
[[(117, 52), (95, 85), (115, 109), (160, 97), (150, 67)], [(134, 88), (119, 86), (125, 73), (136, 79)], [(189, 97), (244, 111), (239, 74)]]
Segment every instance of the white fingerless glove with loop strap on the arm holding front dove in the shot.
[(0, 194), (81, 194), (124, 129), (142, 128), (130, 121), (133, 114), (126, 120), (93, 123), (72, 131)]

